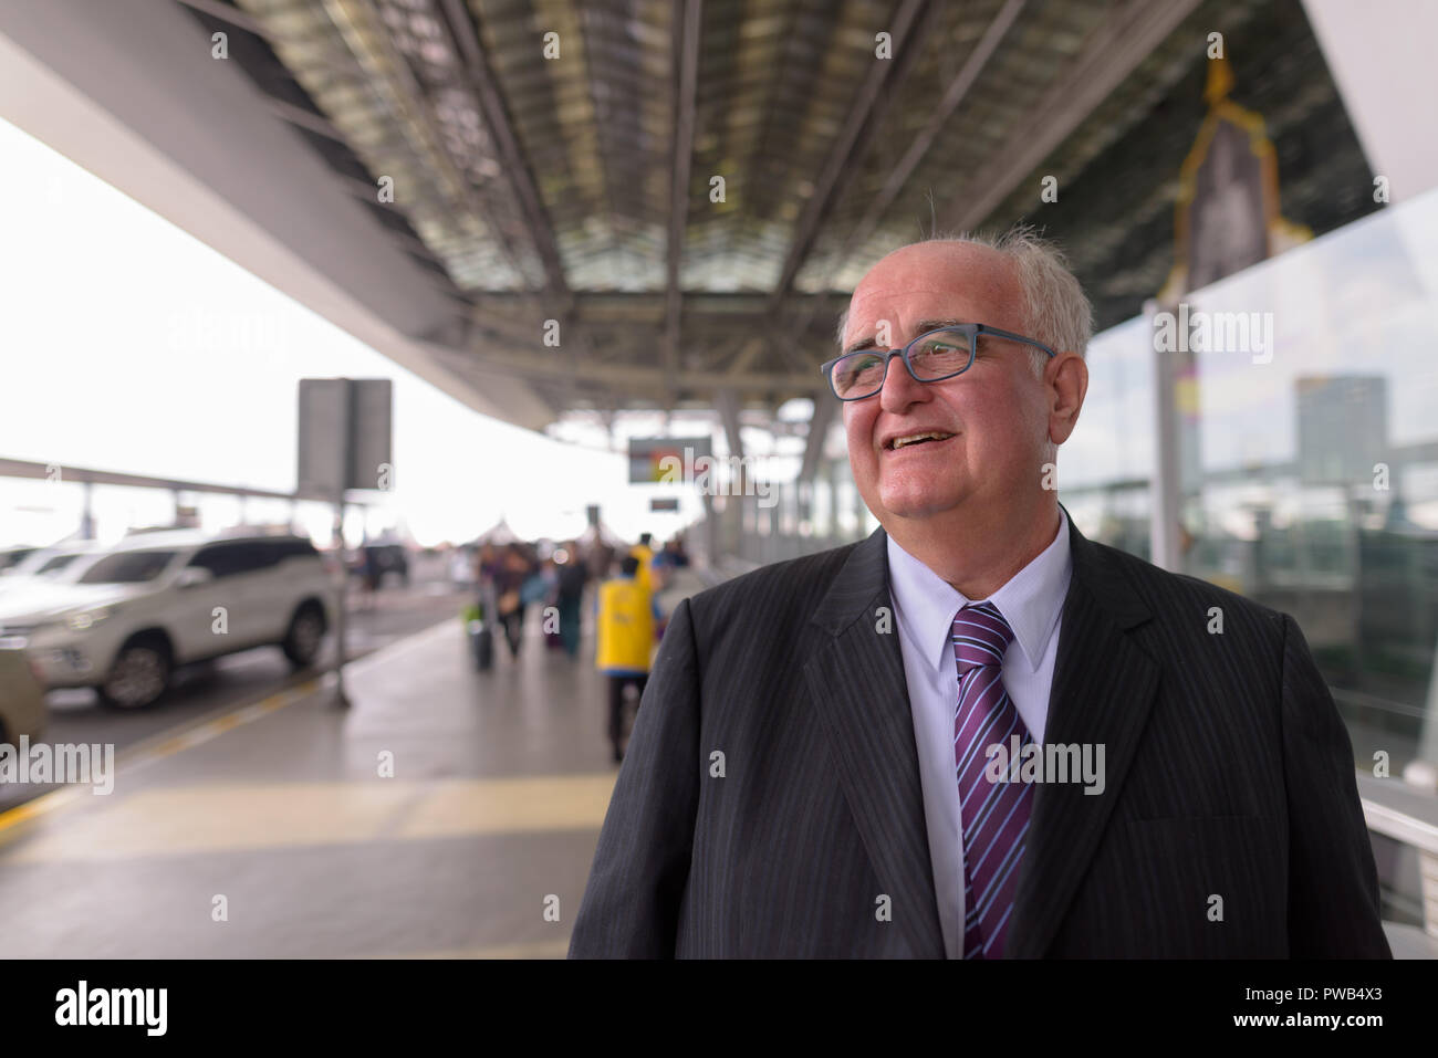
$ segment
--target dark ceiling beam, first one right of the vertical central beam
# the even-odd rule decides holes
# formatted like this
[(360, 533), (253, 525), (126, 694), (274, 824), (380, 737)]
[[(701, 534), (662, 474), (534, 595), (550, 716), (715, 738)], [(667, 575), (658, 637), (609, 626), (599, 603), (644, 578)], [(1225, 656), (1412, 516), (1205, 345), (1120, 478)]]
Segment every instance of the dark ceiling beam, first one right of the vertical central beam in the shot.
[(804, 204), (804, 213), (795, 226), (794, 242), (789, 244), (784, 269), (779, 272), (779, 282), (771, 295), (771, 312), (778, 313), (789, 288), (794, 286), (794, 277), (798, 276), (808, 259), (824, 216), (838, 201), (846, 180), (857, 171), (857, 165), (850, 164), (850, 160), (863, 154), (873, 137), (874, 126), (893, 102), (896, 95), (893, 89), (913, 68), (913, 59), (923, 46), (923, 27), (933, 17), (933, 10), (929, 7), (929, 0), (903, 0), (899, 6), (899, 12), (893, 17), (894, 58), (874, 59), (873, 66), (869, 68), (869, 76), (864, 78), (854, 99), (854, 109), (844, 122), (844, 131), (834, 141), (828, 161), (824, 162), (824, 170), (814, 185), (814, 194)]

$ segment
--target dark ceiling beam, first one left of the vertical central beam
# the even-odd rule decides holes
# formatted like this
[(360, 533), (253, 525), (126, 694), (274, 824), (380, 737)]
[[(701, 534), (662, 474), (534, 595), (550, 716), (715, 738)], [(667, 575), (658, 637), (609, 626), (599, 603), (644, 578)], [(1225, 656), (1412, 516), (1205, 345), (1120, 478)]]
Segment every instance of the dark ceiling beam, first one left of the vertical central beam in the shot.
[(483, 47), (479, 43), (479, 27), (470, 19), (464, 0), (440, 0), (443, 16), (441, 26), (449, 30), (450, 43), (464, 63), (466, 83), (475, 93), (485, 124), (490, 137), (499, 148), (503, 160), (505, 180), (519, 201), (525, 213), (525, 227), (533, 240), (535, 253), (544, 263), (545, 277), (549, 290), (565, 299), (564, 312), (569, 312), (569, 285), (564, 275), (564, 262), (559, 259), (559, 244), (545, 211), (544, 200), (539, 197), (539, 187), (533, 172), (519, 147), (513, 122), (509, 118), (509, 108), (499, 92), (499, 82), (489, 66)]

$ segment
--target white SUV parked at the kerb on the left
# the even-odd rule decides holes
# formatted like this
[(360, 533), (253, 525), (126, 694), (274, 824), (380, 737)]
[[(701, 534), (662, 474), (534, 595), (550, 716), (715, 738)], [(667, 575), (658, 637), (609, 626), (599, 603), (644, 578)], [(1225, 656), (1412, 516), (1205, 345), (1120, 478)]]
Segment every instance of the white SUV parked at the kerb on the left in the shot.
[(46, 689), (95, 687), (139, 709), (177, 666), (278, 645), (313, 663), (336, 585), (301, 536), (135, 536), (72, 584), (0, 595), (0, 648), (23, 647)]

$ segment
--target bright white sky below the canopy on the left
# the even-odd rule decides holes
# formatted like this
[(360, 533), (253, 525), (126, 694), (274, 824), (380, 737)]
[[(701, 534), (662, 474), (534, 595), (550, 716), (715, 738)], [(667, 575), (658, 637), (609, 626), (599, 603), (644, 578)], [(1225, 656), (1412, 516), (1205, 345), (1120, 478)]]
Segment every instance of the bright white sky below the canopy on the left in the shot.
[[(693, 489), (628, 484), (603, 434), (581, 446), (472, 411), (3, 121), (0, 187), (0, 457), (290, 492), (298, 381), (393, 378), (393, 492), (351, 516), (351, 542), (388, 528), (467, 540), (502, 516), (561, 538), (590, 503), (627, 538), (664, 539), (702, 510)], [(679, 496), (680, 513), (650, 515), (651, 496)], [(183, 500), (206, 528), (242, 518), (232, 497)], [(0, 546), (68, 536), (81, 509), (63, 473), (0, 477)], [(168, 522), (174, 497), (96, 486), (93, 510), (115, 539)], [(331, 510), (295, 513), (328, 540)], [(243, 516), (286, 522), (289, 503), (252, 499)]]

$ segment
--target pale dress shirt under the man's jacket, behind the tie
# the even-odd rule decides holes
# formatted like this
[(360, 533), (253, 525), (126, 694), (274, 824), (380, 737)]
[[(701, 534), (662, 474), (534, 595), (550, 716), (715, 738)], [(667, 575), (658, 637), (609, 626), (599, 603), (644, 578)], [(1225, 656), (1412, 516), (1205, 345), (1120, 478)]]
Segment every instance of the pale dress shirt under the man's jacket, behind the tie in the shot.
[[(1058, 625), (1073, 576), (1068, 515), (1058, 509), (1058, 533), (1032, 562), (989, 595), (1014, 630), (1004, 653), (1004, 689), (1034, 736), (1044, 740), (1048, 693), (1058, 656)], [(953, 717), (959, 706), (959, 670), (953, 660), (953, 618), (968, 599), (889, 538), (889, 594), (903, 651), (903, 671), (913, 709), (919, 781), (929, 831), (929, 858), (939, 897), (943, 947), (963, 957), (963, 842), (959, 786), (953, 763)]]

